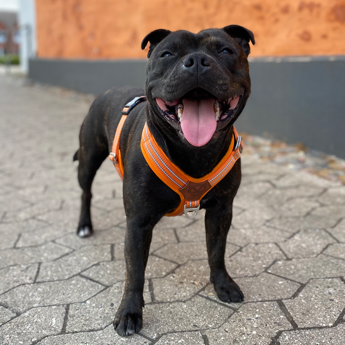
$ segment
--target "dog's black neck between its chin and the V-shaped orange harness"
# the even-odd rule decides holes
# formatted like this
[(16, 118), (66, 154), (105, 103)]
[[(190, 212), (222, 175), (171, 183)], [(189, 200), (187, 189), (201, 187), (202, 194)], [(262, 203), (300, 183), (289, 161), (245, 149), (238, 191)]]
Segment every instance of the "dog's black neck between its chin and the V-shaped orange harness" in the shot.
[(181, 140), (177, 130), (160, 115), (155, 116), (151, 113), (147, 122), (157, 144), (168, 158), (194, 178), (203, 177), (212, 171), (225, 156), (234, 133), (234, 127), (227, 126), (219, 132), (219, 137), (212, 144), (191, 147)]

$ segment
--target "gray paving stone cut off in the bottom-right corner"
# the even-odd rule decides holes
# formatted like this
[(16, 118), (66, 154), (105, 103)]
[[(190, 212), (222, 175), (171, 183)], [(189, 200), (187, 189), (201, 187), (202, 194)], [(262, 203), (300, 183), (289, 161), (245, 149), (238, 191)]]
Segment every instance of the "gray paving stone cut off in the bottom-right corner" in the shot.
[(302, 329), (283, 332), (278, 341), (280, 345), (343, 345), (345, 325), (323, 329)]

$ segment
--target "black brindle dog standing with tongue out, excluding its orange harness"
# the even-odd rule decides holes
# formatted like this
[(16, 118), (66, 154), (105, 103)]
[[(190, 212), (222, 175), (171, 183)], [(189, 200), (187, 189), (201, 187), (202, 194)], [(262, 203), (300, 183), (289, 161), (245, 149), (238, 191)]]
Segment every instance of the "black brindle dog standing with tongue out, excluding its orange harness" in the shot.
[[(180, 203), (180, 197), (155, 175), (141, 152), (145, 121), (175, 165), (193, 178), (208, 174), (226, 154), (233, 137), (233, 123), (250, 93), (249, 41), (254, 44), (251, 31), (230, 25), (197, 34), (159, 29), (149, 33), (141, 43), (144, 49), (150, 42), (147, 101), (130, 112), (120, 139), (127, 216), (126, 285), (114, 319), (114, 327), (120, 335), (137, 333), (142, 327), (144, 272), (152, 229)], [(78, 179), (83, 190), (78, 226), (81, 237), (92, 233), (91, 184), (97, 169), (111, 152), (121, 110), (127, 102), (143, 94), (144, 90), (130, 87), (107, 91), (92, 103), (81, 126), (80, 148), (75, 155), (79, 160)], [(218, 117), (213, 107), (210, 114), (207, 112), (214, 101), (220, 103)], [(185, 106), (181, 121), (178, 103)], [(233, 109), (232, 116), (227, 117), (229, 109)], [(224, 302), (243, 300), (241, 290), (228, 275), (224, 263), (233, 199), (240, 180), (240, 160), (237, 160), (233, 169), (200, 202), (200, 207), (206, 209), (210, 281)]]

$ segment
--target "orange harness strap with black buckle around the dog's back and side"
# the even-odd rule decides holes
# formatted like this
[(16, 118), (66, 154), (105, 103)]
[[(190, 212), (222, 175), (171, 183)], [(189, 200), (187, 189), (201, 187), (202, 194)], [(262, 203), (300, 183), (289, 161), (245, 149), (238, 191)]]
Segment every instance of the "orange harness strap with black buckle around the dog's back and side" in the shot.
[(145, 96), (135, 97), (129, 103), (125, 105), (122, 109), (122, 117), (120, 119), (119, 124), (117, 125), (114, 141), (112, 143), (112, 150), (109, 154), (110, 160), (114, 163), (116, 170), (118, 171), (121, 180), (124, 179), (124, 165), (121, 158), (121, 151), (120, 151), (120, 137), (121, 131), (124, 127), (125, 121), (127, 119), (127, 115), (129, 112), (136, 107), (139, 103), (146, 101)]

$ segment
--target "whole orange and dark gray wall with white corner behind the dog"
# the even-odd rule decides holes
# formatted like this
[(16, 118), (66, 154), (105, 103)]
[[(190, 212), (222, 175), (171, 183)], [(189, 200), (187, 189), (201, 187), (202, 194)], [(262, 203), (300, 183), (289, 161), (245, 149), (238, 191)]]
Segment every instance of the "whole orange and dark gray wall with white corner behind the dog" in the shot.
[(144, 86), (152, 30), (245, 26), (252, 94), (237, 128), (345, 158), (345, 0), (0, 0), (0, 15), (1, 1), (19, 4), (32, 80), (96, 95)]

